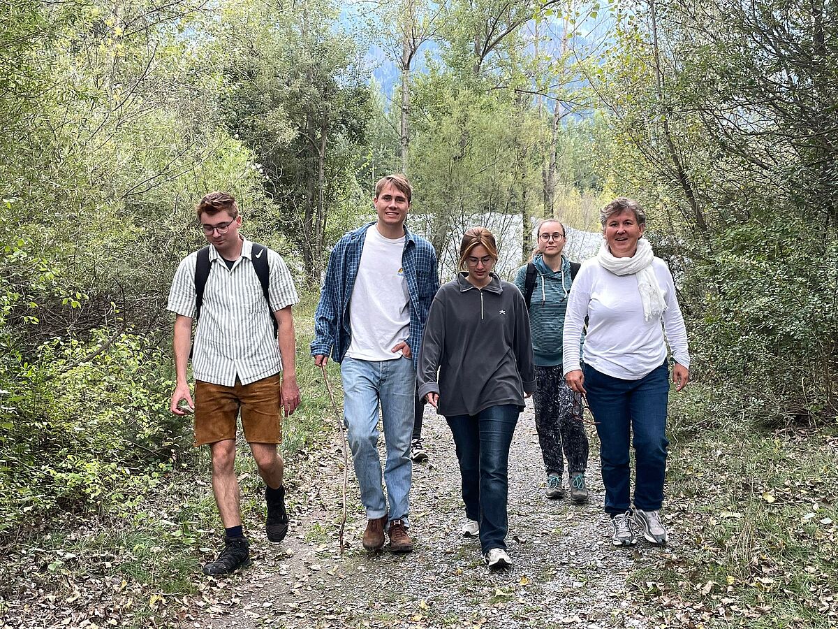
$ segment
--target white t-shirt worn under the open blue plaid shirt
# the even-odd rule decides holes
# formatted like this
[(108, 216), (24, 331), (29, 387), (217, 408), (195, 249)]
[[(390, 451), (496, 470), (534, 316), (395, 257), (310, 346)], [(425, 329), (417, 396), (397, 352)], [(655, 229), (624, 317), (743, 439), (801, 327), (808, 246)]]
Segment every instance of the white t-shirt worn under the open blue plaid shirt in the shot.
[[(352, 341), (346, 356), (360, 361), (392, 361), (401, 358), (394, 346), (407, 340), (411, 327), (411, 299), (401, 268), (405, 237), (391, 240), (370, 225), (358, 277), (349, 299), (349, 329)], [(411, 351), (419, 351), (411, 347)]]

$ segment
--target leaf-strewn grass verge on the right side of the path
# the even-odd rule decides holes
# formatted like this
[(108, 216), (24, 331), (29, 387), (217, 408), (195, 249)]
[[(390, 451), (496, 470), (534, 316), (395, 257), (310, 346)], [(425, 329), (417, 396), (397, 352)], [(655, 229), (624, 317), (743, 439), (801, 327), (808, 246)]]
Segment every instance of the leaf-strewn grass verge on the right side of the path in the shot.
[(736, 399), (700, 385), (674, 397), (665, 514), (677, 550), (649, 558), (629, 586), (650, 612), (662, 600), (730, 611), (706, 626), (834, 626), (835, 429), (768, 430), (737, 414)]

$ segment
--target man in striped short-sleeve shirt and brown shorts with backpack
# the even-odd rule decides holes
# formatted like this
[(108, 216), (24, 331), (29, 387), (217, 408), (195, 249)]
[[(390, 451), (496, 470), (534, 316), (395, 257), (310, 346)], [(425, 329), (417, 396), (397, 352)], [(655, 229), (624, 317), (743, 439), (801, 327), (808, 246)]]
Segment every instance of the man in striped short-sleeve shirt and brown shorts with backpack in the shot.
[[(204, 574), (227, 574), (250, 556), (233, 468), (240, 411), (245, 439), (266, 485), (267, 538), (281, 542), (288, 530), (277, 444), (282, 413), (287, 417), (300, 403), (291, 313), (299, 299), (282, 257), (239, 233), (241, 216), (233, 195), (210, 192), (200, 200), (197, 216), (209, 245), (181, 261), (168, 297), (168, 309), (175, 314), (177, 376), (170, 410), (181, 416), (194, 412), (195, 445), (209, 444), (225, 547), (204, 565)], [(266, 270), (266, 278), (258, 268)], [(187, 381), (193, 319), (198, 320), (194, 402)]]

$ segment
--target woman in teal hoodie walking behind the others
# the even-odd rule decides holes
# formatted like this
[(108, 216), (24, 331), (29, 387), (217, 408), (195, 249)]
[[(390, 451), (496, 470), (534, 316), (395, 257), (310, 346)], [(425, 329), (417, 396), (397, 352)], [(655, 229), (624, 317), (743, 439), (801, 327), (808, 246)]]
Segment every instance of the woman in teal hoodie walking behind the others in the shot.
[(530, 309), (535, 355), (535, 429), (546, 469), (546, 496), (551, 499), (565, 496), (561, 481), (564, 450), (571, 500), (586, 502), (588, 443), (582, 424), (582, 395), (567, 387), (561, 371), (567, 295), (579, 265), (561, 255), (565, 246), (565, 228), (561, 222), (541, 221), (535, 227), (534, 235), (538, 240), (537, 253), (531, 263), (518, 269), (515, 285), (524, 294)]

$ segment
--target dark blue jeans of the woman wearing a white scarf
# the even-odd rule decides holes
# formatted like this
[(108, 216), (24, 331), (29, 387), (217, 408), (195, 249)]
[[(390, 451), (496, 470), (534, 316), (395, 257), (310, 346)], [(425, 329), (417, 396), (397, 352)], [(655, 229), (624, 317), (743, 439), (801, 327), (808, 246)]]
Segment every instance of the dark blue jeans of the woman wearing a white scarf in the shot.
[(634, 434), (634, 507), (660, 509), (666, 472), (666, 403), (670, 393), (666, 363), (639, 380), (623, 380), (583, 365), (587, 403), (599, 434), (605, 511), (629, 511), (629, 432)]

